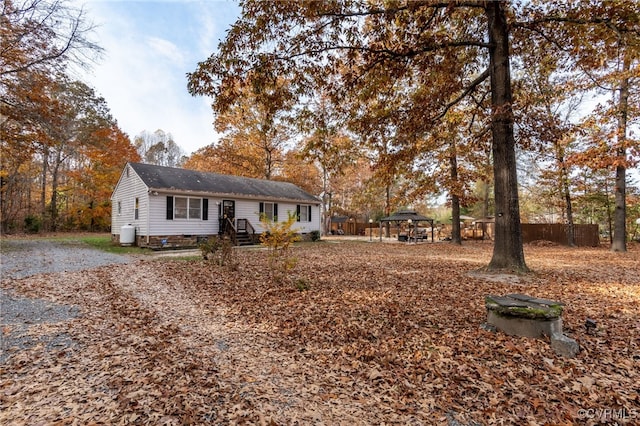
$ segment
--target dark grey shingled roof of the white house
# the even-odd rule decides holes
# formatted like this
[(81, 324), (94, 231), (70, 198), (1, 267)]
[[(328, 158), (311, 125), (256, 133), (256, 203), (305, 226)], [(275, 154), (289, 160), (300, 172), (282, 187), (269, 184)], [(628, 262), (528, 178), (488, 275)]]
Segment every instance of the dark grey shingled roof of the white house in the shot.
[(318, 203), (318, 198), (288, 182), (253, 179), (218, 173), (129, 163), (142, 181), (153, 190), (241, 195), (263, 199), (298, 200)]

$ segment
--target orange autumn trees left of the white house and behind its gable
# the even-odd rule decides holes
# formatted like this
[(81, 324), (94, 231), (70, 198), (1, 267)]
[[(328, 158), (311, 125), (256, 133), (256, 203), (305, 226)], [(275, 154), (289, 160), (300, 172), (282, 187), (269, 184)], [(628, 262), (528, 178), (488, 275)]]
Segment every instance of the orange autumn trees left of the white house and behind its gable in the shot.
[(69, 1), (5, 0), (0, 10), (0, 228), (105, 231), (127, 161), (179, 166), (170, 133), (131, 142), (105, 99), (74, 79), (102, 48)]

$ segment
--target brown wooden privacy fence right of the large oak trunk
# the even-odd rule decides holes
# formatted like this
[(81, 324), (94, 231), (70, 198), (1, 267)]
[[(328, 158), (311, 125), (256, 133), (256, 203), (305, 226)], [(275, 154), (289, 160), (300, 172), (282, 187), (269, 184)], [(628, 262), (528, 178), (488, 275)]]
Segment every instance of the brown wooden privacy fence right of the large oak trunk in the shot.
[[(579, 247), (596, 247), (600, 244), (598, 225), (573, 225), (575, 243)], [(522, 241), (545, 240), (568, 245), (567, 225), (562, 223), (523, 223)]]

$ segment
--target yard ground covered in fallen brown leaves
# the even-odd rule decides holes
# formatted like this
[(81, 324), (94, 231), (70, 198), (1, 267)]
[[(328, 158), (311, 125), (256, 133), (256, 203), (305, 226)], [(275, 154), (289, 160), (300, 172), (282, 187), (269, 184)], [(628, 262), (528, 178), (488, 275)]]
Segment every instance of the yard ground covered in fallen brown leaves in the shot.
[[(238, 251), (237, 268), (142, 259), (3, 280), (79, 314), (34, 323), (27, 333), (40, 343), (9, 349), (0, 422), (638, 421), (637, 246), (529, 245), (534, 272), (521, 276), (482, 272), (491, 257), (483, 243), (324, 242), (291, 254), (294, 283), (274, 283), (264, 250)], [(485, 295), (516, 292), (566, 304), (576, 358), (480, 327)]]

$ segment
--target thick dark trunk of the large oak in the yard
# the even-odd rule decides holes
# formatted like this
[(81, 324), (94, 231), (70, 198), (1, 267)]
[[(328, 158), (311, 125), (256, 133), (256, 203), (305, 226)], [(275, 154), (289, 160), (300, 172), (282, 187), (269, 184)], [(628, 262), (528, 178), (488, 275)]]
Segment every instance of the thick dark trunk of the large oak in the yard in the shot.
[(493, 175), (496, 208), (495, 243), (490, 270), (528, 271), (522, 247), (511, 75), (505, 2), (487, 2), (493, 134)]

